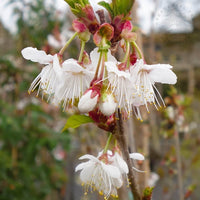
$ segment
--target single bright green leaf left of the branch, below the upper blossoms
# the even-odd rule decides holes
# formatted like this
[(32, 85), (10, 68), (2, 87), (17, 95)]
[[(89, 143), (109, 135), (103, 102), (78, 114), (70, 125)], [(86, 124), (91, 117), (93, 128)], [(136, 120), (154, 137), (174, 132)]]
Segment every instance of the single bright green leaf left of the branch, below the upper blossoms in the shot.
[(71, 117), (68, 118), (67, 123), (62, 129), (62, 132), (68, 128), (77, 128), (81, 124), (86, 124), (90, 122), (94, 122), (94, 121), (86, 115), (72, 115)]

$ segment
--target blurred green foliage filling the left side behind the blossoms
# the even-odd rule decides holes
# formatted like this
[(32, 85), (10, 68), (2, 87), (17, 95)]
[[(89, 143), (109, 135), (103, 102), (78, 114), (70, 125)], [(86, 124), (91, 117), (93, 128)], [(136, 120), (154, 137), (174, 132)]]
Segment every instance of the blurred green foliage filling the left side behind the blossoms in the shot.
[[(20, 55), (28, 43), (44, 45), (58, 22), (43, 0), (26, 5), (12, 2), (22, 6), (16, 7), (18, 34), (12, 38), (11, 53), (0, 55), (0, 199), (61, 199), (67, 181), (64, 160), (70, 148), (70, 136), (61, 134), (63, 125), (58, 124), (64, 114), (28, 96), (40, 67), (25, 63)], [(24, 6), (30, 7), (26, 16)]]

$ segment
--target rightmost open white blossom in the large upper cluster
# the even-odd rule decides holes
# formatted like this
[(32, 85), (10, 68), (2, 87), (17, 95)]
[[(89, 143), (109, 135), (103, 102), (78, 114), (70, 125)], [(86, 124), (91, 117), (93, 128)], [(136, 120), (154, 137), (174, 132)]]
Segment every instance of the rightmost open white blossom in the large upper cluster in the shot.
[[(155, 83), (175, 84), (177, 77), (171, 69), (172, 66), (169, 64), (147, 65), (142, 59), (137, 60), (131, 66), (131, 81), (136, 88), (136, 93), (132, 96), (132, 104), (136, 107), (139, 118), (141, 117), (138, 109), (140, 105), (145, 105), (148, 112), (148, 103), (153, 103), (157, 109), (162, 104), (165, 106)], [(159, 99), (162, 104), (160, 104)]]

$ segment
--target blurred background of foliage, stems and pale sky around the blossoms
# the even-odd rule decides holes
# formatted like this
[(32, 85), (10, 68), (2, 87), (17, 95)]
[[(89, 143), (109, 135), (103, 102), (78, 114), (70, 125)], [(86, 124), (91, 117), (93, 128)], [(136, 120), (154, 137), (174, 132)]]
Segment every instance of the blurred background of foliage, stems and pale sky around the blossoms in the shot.
[[(79, 156), (101, 150), (106, 134), (91, 125), (61, 133), (72, 111), (27, 92), (42, 66), (24, 60), (21, 50), (57, 52), (73, 33), (67, 4), (1, 0), (0, 11), (0, 199), (101, 199), (83, 196), (74, 168)], [(133, 23), (146, 62), (170, 63), (178, 76), (174, 87), (157, 85), (166, 109), (152, 106), (143, 123), (135, 117), (126, 122), (130, 151), (146, 158), (135, 163), (147, 171), (136, 174), (140, 191), (155, 187), (154, 200), (199, 200), (200, 1), (141, 0)], [(76, 58), (79, 46), (74, 41), (65, 58)], [(131, 199), (126, 188), (120, 196)]]

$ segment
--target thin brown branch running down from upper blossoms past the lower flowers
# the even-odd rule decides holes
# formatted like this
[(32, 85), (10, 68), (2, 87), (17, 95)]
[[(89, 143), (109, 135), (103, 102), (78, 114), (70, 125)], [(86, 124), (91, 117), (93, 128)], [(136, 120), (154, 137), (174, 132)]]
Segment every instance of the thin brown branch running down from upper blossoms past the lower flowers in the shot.
[(118, 109), (118, 117), (119, 117), (119, 120), (117, 120), (116, 122), (116, 129), (114, 131), (114, 135), (117, 139), (117, 142), (120, 145), (121, 152), (129, 168), (128, 178), (130, 182), (130, 189), (134, 196), (134, 200), (141, 200), (141, 196), (138, 191), (138, 186), (135, 181), (131, 159), (129, 157), (128, 144), (127, 144), (126, 136), (124, 134), (122, 115), (119, 109)]

